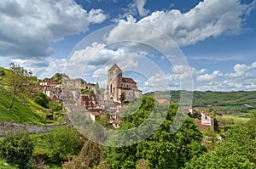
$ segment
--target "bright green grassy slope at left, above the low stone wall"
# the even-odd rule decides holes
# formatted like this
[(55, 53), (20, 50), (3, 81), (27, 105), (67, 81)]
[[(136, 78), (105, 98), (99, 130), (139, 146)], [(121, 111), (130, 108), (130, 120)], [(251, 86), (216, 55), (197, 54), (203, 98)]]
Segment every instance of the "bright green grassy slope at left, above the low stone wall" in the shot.
[(13, 108), (9, 110), (10, 100), (11, 96), (9, 93), (3, 87), (0, 87), (0, 121), (13, 121), (34, 125), (48, 123), (46, 115), (49, 114), (49, 111), (34, 103), (31, 99), (27, 99), (25, 104), (15, 99)]

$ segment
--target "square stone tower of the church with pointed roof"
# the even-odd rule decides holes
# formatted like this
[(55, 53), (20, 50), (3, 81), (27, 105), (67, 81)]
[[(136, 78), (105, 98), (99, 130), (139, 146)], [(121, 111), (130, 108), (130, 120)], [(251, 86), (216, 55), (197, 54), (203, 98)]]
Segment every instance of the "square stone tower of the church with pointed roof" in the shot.
[(122, 70), (116, 64), (108, 70), (108, 100), (119, 102), (118, 90), (122, 83), (122, 76)]

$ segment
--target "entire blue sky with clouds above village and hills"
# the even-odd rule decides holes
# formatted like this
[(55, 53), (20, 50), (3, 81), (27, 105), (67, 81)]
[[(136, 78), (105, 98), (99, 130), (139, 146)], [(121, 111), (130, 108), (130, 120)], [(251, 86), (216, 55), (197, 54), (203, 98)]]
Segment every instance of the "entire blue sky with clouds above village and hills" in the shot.
[(0, 66), (143, 93), (256, 90), (256, 0), (1, 0)]

